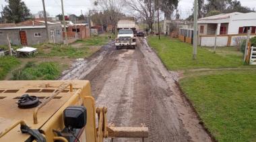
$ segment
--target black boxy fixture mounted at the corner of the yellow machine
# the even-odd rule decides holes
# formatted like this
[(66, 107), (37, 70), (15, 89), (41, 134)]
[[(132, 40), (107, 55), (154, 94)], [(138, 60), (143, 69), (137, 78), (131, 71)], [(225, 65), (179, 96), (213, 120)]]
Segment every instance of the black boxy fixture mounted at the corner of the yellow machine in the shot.
[(69, 106), (64, 112), (64, 124), (67, 128), (82, 129), (86, 126), (87, 111), (84, 106)]

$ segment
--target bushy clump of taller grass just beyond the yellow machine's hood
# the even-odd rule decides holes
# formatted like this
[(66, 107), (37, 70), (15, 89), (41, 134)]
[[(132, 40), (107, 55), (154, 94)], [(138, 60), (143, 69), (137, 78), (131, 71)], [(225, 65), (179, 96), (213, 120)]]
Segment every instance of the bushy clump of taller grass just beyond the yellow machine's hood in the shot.
[(58, 64), (28, 62), (22, 69), (13, 72), (12, 80), (55, 80), (61, 74)]

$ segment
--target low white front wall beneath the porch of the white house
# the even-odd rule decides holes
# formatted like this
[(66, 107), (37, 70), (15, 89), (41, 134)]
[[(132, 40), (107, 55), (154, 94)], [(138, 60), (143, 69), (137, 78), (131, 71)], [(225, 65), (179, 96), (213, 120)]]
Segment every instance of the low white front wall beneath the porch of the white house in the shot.
[[(217, 37), (217, 46), (227, 46), (228, 36)], [(201, 46), (212, 47), (215, 44), (215, 37), (201, 37)]]

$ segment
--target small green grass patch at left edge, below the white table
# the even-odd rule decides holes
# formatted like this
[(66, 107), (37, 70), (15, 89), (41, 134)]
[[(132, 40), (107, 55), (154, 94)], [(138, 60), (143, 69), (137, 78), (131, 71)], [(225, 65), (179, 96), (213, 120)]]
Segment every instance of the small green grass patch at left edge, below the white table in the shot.
[(20, 61), (17, 58), (11, 56), (0, 57), (0, 80), (3, 80), (5, 75), (19, 64)]

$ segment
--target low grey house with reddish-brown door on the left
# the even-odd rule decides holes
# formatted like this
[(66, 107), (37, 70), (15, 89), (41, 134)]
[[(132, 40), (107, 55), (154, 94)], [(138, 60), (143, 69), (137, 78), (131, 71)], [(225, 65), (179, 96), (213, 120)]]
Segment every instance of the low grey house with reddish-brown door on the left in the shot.
[(11, 44), (29, 46), (47, 42), (46, 32), (49, 34), (49, 42), (63, 43), (61, 24), (48, 23), (48, 31), (44, 21), (24, 21), (11, 27), (0, 27), (0, 45), (7, 44), (7, 35)]

